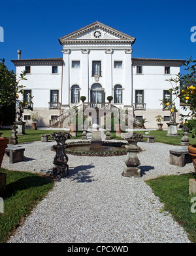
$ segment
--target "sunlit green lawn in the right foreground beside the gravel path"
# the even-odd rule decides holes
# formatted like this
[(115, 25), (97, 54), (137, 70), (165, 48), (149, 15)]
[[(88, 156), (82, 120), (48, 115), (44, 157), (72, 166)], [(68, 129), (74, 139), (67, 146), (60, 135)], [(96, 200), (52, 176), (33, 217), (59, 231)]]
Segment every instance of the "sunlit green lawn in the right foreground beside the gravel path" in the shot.
[[(189, 233), (189, 240), (196, 243), (196, 213), (191, 211), (189, 179), (196, 179), (196, 174), (171, 175), (146, 181), (154, 190), (155, 196), (164, 203), (163, 211), (169, 211), (174, 219)], [(163, 213), (163, 211), (160, 211)]]

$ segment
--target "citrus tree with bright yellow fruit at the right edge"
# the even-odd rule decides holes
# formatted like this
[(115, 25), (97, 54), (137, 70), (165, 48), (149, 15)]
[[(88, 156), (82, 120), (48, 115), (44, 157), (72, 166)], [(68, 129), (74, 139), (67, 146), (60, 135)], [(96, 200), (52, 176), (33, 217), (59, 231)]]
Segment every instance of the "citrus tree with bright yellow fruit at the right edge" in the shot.
[[(168, 81), (171, 83), (172, 88), (169, 91), (175, 95), (174, 100), (178, 97), (180, 98), (180, 102), (184, 103), (184, 110), (188, 112), (188, 114), (180, 114), (185, 120), (185, 125), (189, 126), (189, 120), (191, 120), (191, 132), (192, 137), (196, 136), (196, 60), (186, 60), (182, 66), (185, 66), (186, 74), (178, 74), (175, 79), (169, 79)], [(163, 104), (165, 104), (165, 108), (172, 104), (174, 101), (167, 102), (167, 100), (162, 100)], [(170, 108), (172, 110), (172, 108)], [(175, 110), (172, 110), (175, 111)]]

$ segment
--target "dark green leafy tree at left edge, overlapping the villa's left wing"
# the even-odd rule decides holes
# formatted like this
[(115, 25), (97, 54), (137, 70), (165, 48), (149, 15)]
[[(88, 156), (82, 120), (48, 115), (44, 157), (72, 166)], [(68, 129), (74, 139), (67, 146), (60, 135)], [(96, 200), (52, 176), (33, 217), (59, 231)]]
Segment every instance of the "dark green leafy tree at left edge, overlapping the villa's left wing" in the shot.
[(25, 78), (25, 72), (20, 74), (18, 81), (16, 81), (16, 74), (13, 70), (8, 70), (5, 66), (5, 59), (0, 59), (0, 108), (2, 106), (10, 106), (16, 102), (18, 93), (23, 93), (23, 85), (19, 85), (21, 80)]

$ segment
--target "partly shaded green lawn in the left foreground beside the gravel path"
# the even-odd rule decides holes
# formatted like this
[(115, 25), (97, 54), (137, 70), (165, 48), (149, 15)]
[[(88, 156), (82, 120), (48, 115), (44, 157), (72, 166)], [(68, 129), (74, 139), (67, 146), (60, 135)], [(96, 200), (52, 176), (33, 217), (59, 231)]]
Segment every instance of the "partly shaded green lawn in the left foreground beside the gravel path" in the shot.
[(0, 213), (0, 242), (5, 242), (8, 236), (22, 222), (24, 217), (41, 201), (54, 182), (46, 177), (22, 171), (8, 171), (0, 168), (1, 173), (7, 173), (7, 190), (3, 196), (4, 213)]

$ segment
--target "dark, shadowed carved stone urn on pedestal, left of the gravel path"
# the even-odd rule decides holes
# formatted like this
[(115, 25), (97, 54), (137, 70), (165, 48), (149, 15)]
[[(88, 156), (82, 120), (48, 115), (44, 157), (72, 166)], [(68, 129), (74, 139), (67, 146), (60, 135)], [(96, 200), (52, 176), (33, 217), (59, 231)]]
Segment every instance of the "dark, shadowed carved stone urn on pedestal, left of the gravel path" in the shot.
[(66, 177), (69, 171), (68, 157), (65, 154), (65, 148), (67, 148), (65, 141), (71, 139), (71, 134), (67, 132), (52, 133), (51, 138), (57, 142), (57, 145), (52, 146), (52, 150), (56, 151), (56, 156), (54, 157), (53, 163), (55, 166), (52, 169), (51, 176), (60, 179)]

